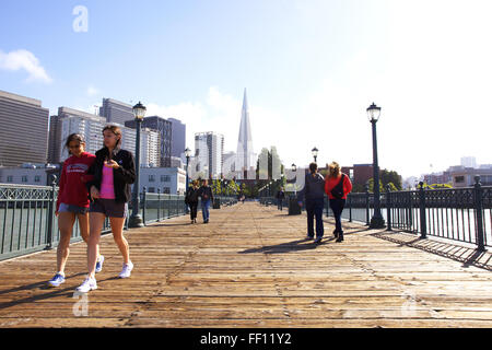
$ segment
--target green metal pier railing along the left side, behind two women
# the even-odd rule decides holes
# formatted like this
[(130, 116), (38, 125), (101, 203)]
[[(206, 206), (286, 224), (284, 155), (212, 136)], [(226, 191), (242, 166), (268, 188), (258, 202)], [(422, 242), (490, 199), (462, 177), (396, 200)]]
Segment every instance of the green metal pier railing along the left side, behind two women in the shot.
[[(58, 187), (0, 184), (0, 260), (51, 249), (58, 246), (60, 231), (55, 214)], [(237, 200), (233, 197), (218, 196), (221, 206), (230, 206)], [(184, 196), (140, 194), (140, 214), (144, 224), (186, 214)], [(130, 211), (131, 213), (131, 203)], [(128, 217), (125, 222), (128, 230)], [(106, 218), (103, 234), (110, 233)], [(82, 241), (75, 221), (70, 242)]]

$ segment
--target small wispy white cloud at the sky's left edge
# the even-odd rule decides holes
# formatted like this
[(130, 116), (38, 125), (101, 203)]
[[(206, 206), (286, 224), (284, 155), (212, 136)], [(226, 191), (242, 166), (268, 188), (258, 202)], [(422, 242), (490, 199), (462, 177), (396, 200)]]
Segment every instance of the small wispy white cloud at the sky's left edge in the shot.
[(0, 50), (0, 69), (9, 71), (25, 70), (28, 73), (28, 82), (42, 81), (44, 83), (50, 83), (52, 81), (43, 66), (40, 66), (37, 57), (25, 49), (7, 54)]

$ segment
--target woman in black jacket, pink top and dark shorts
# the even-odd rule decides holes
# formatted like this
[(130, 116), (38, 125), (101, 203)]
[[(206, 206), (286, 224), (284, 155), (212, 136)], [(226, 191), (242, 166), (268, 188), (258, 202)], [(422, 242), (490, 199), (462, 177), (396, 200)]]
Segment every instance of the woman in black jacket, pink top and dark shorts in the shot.
[(87, 182), (92, 199), (89, 209), (89, 275), (77, 289), (83, 293), (97, 289), (94, 273), (101, 231), (106, 217), (109, 218), (113, 238), (124, 258), (122, 270), (118, 277), (128, 278), (133, 269), (133, 264), (130, 260), (130, 248), (122, 235), (125, 219), (128, 215), (128, 201), (131, 198), (130, 185), (136, 179), (133, 154), (121, 149), (121, 130), (119, 127), (106, 126), (103, 129), (103, 137), (104, 148), (96, 152), (96, 159), (87, 171), (87, 174), (94, 175), (94, 179)]

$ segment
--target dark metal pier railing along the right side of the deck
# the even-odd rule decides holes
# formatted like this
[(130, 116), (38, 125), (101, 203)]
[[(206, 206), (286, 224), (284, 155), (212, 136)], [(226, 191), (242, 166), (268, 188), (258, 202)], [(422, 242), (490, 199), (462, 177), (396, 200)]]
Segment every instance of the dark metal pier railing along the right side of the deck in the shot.
[[(265, 206), (274, 205), (273, 197), (261, 197)], [(386, 191), (380, 194), (382, 214), (387, 230), (399, 230), (477, 245), (479, 250), (492, 246), (492, 186), (466, 188)], [(303, 207), (304, 210), (304, 207)], [(325, 196), (325, 214), (332, 217)], [(342, 218), (370, 224), (374, 214), (374, 194), (350, 194)]]

